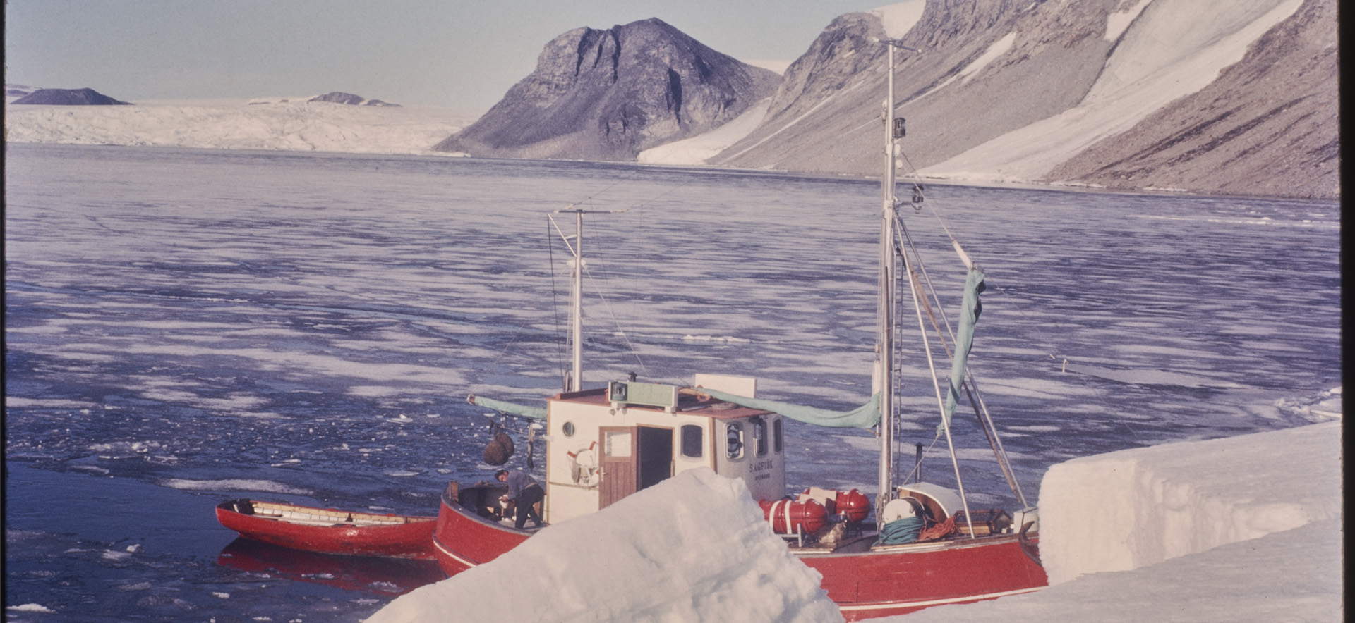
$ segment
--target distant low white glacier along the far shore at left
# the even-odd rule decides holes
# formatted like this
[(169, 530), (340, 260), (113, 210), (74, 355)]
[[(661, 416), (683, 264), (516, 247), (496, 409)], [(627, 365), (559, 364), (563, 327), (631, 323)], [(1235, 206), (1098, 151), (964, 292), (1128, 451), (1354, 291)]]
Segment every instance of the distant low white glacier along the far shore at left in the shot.
[(7, 106), (5, 141), (434, 153), (474, 121), (447, 108), (346, 106), (310, 98), (133, 102), (136, 106)]

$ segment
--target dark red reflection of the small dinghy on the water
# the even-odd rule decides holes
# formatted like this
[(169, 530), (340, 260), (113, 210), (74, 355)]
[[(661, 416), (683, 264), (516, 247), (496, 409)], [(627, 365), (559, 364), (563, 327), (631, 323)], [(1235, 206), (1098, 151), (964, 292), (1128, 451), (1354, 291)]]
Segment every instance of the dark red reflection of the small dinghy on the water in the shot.
[(404, 595), (447, 577), (436, 562), (427, 559), (318, 554), (245, 538), (232, 540), (221, 550), (217, 563), (241, 572), (385, 595)]

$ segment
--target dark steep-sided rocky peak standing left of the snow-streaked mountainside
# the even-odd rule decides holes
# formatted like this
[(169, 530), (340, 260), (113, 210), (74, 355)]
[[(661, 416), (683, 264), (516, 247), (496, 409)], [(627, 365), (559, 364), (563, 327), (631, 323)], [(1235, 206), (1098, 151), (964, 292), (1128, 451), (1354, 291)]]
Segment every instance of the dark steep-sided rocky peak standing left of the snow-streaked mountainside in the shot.
[(537, 69), (489, 112), (434, 149), (629, 161), (732, 121), (779, 81), (659, 19), (576, 28), (547, 43)]

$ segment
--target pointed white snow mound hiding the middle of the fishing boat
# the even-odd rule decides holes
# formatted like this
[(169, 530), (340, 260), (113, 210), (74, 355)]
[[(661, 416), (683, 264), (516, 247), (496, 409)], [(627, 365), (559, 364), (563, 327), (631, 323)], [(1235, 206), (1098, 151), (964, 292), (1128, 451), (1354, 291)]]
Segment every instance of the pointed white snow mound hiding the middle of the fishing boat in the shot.
[(772, 535), (741, 481), (688, 470), (416, 589), (367, 623), (843, 620), (820, 580)]

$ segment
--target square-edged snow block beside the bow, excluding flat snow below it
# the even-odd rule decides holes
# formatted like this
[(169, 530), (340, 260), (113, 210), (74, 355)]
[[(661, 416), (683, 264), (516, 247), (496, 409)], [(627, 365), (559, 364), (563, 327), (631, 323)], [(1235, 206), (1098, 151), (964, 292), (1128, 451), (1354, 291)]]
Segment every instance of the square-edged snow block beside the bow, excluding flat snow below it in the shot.
[(1341, 423), (1123, 450), (1041, 485), (1051, 585), (1138, 569), (1341, 513)]

